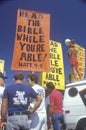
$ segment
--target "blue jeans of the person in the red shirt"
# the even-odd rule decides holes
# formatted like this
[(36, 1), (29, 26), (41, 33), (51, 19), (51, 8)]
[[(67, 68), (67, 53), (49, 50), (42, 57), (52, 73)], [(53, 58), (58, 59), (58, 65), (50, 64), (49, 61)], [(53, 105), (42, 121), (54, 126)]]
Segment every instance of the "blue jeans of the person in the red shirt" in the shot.
[(62, 113), (53, 113), (52, 114), (52, 123), (53, 123), (54, 130), (61, 130), (60, 121), (61, 121), (62, 117), (63, 117)]

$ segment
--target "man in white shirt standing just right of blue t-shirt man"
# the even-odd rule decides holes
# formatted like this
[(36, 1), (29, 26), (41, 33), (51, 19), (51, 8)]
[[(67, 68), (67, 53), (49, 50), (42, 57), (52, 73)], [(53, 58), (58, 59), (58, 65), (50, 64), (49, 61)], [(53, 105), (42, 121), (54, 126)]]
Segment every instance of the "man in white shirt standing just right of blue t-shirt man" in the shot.
[[(46, 130), (47, 115), (45, 106), (45, 89), (38, 84), (38, 76), (34, 73), (27, 76), (27, 81), (28, 85), (31, 86), (42, 98), (40, 107), (30, 116), (30, 130)], [(34, 103), (35, 100), (31, 98), (30, 107), (33, 107)]]

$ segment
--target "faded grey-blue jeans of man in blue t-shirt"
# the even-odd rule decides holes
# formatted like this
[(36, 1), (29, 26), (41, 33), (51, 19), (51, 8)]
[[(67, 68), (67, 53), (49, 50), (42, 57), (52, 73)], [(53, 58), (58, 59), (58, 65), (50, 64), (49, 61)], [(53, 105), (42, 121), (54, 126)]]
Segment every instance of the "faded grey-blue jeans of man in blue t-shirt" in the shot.
[(28, 115), (8, 116), (6, 130), (29, 130)]

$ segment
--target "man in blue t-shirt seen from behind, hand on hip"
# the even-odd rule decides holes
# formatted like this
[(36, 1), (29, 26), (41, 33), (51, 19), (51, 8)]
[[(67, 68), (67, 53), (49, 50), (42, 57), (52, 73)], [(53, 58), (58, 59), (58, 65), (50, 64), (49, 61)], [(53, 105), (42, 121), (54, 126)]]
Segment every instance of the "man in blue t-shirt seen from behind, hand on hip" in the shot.
[[(21, 72), (14, 75), (14, 83), (5, 88), (1, 106), (1, 121), (6, 130), (29, 130), (28, 112), (33, 113), (41, 104), (41, 97), (31, 88), (24, 85)], [(30, 97), (36, 99), (35, 106), (28, 111)], [(6, 114), (7, 113), (7, 114)]]

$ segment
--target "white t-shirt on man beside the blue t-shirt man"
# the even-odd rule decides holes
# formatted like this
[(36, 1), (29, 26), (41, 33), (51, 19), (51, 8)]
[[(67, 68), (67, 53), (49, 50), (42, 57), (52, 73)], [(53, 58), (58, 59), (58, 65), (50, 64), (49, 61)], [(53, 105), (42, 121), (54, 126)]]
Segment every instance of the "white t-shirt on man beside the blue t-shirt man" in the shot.
[[(36, 84), (32, 87), (42, 98), (42, 102), (36, 112), (46, 112), (45, 106), (45, 89), (41, 87), (39, 84)], [(36, 99), (31, 98), (30, 108), (34, 106)]]

